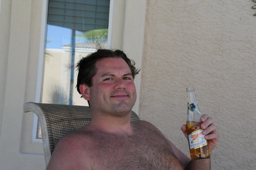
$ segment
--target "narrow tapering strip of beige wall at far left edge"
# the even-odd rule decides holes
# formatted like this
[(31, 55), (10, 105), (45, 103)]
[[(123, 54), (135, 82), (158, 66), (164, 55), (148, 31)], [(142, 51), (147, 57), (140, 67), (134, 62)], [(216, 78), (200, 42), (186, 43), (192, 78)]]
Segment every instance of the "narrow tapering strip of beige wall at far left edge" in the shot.
[[(0, 1), (0, 125), (2, 122), (10, 36), (11, 0)], [(1, 135), (1, 126), (0, 126)]]

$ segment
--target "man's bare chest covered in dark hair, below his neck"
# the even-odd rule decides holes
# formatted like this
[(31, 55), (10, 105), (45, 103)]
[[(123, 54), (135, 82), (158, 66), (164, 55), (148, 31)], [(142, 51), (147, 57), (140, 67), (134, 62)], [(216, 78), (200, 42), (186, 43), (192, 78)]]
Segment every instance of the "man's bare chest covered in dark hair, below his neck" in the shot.
[(157, 132), (98, 136), (91, 155), (93, 170), (184, 169), (168, 141)]

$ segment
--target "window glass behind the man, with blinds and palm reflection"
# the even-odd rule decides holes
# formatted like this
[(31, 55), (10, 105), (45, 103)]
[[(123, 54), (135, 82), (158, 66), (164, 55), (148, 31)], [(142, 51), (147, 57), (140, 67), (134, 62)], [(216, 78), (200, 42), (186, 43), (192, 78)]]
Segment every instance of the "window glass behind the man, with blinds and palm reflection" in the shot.
[[(106, 49), (110, 0), (49, 0), (42, 103), (88, 105), (75, 89), (75, 64)], [(41, 138), (40, 125), (37, 138)]]

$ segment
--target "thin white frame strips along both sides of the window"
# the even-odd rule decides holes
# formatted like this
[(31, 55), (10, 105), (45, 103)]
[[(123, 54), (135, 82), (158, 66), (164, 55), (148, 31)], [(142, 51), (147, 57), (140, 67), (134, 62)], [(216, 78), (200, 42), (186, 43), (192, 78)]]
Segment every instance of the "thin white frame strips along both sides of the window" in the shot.
[[(0, 0), (0, 2), (1, 2), (1, 0)], [(36, 95), (35, 95), (36, 103), (41, 102), (45, 36), (46, 36), (47, 12), (48, 12), (47, 9), (48, 9), (48, 0), (42, 0), (40, 47), (39, 47), (39, 56), (38, 56), (38, 70), (37, 70)], [(109, 20), (108, 20), (108, 36), (107, 36), (107, 48), (108, 49), (111, 48), (113, 13), (114, 13), (114, 0), (110, 0)], [(36, 116), (36, 114), (34, 114), (31, 142), (42, 143), (42, 139), (37, 138), (37, 131), (38, 131), (38, 117)]]

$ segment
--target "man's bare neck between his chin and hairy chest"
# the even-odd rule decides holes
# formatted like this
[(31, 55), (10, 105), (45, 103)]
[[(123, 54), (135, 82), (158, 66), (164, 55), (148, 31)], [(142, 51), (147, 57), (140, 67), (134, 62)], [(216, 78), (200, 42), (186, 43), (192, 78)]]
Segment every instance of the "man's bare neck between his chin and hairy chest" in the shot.
[(88, 126), (108, 133), (132, 135), (133, 129), (130, 120), (131, 113), (122, 117), (92, 114), (92, 119)]

